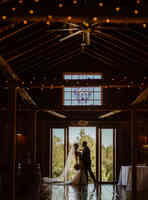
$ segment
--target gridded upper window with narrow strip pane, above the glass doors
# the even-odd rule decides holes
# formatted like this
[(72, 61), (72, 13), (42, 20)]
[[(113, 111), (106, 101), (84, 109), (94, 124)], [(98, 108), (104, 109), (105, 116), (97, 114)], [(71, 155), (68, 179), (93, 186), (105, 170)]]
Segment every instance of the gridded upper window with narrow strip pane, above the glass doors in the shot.
[[(97, 80), (101, 79), (100, 74), (64, 74), (64, 80)], [(64, 87), (64, 105), (101, 105), (101, 87)]]

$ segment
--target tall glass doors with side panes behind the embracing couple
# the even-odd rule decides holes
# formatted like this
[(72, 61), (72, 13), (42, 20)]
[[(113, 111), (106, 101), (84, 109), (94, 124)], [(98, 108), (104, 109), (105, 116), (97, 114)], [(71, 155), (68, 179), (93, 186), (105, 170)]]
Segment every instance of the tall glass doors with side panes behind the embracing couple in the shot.
[[(115, 129), (100, 129), (96, 127), (53, 128), (51, 131), (49, 171), (52, 177), (58, 177), (63, 172), (68, 152), (74, 143), (87, 141), (91, 150), (92, 170), (99, 182), (114, 182), (116, 180), (116, 133)], [(73, 165), (75, 160), (73, 159)], [(69, 178), (73, 176), (71, 170)], [(89, 179), (89, 183), (92, 180)]]

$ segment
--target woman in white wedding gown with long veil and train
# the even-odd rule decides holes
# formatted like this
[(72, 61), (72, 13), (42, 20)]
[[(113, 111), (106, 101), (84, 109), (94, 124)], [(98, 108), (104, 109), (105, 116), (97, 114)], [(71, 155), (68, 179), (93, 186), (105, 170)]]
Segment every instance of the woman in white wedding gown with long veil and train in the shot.
[[(73, 147), (71, 148), (67, 161), (65, 163), (65, 168), (62, 172), (62, 174), (59, 177), (56, 178), (49, 178), (49, 177), (43, 177), (43, 183), (59, 183), (59, 184), (71, 184), (71, 185), (84, 185), (87, 184), (87, 178), (85, 175), (84, 170), (84, 163), (81, 160), (82, 152), (79, 151), (79, 145), (78, 143), (75, 143)], [(75, 159), (75, 165), (72, 165), (73, 157)], [(69, 173), (75, 169), (75, 174), (72, 177), (71, 180), (67, 181), (67, 177)]]

